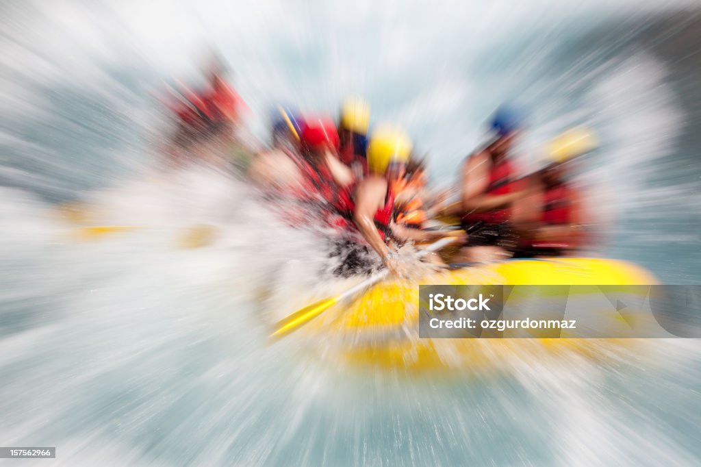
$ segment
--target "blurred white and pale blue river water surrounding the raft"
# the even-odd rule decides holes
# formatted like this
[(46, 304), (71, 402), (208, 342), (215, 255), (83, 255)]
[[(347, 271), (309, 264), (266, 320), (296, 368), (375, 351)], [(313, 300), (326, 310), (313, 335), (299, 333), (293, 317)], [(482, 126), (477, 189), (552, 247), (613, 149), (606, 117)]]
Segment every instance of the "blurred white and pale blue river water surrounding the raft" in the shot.
[[(498, 104), (531, 108), (519, 163), (597, 129), (580, 179), (592, 255), (701, 280), (701, 15), (688, 4), (6, 2), (0, 39), (0, 443), (55, 465), (697, 465), (701, 347), (514, 346), (453, 373), (346, 367), (290, 309), (343, 288), (307, 231), (212, 168), (164, 170), (163, 80), (214, 46), (266, 134), (276, 102), (334, 112), (365, 95), (407, 126), (433, 182)], [(60, 203), (136, 229), (76, 238)], [(197, 226), (203, 248), (184, 248)], [(282, 298), (280, 298), (282, 297)], [(329, 337), (332, 339), (332, 337)], [(503, 355), (503, 354), (502, 354)], [(7, 461), (8, 463), (10, 461)], [(52, 465), (51, 461), (36, 461)], [(31, 464), (32, 461), (27, 461)]]

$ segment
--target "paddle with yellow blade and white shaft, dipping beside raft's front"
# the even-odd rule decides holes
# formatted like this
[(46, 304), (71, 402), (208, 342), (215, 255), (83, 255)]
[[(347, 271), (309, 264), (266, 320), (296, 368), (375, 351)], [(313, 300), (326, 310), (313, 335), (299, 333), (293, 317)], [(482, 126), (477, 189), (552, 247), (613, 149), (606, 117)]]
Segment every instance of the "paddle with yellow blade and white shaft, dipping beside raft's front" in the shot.
[[(431, 243), (430, 245), (428, 245), (428, 247), (423, 248), (423, 250), (419, 250), (418, 256), (423, 257), (430, 252), (440, 250), (444, 246), (453, 243), (455, 240), (456, 237), (441, 238), (439, 241)], [(295, 311), (294, 313), (288, 315), (286, 318), (283, 318), (282, 320), (278, 321), (278, 323), (275, 323), (275, 332), (273, 332), (273, 334), (271, 334), (270, 337), (280, 338), (284, 337), (287, 334), (290, 334), (290, 332), (297, 330), (299, 327), (313, 320), (313, 318), (316, 318), (321, 313), (331, 308), (331, 306), (333, 306), (334, 304), (337, 304), (348, 297), (352, 297), (353, 295), (355, 295), (356, 292), (360, 292), (360, 290), (363, 290), (367, 287), (370, 287), (371, 285), (378, 283), (383, 278), (386, 278), (388, 274), (388, 269), (383, 269), (382, 271), (374, 273), (372, 276), (363, 280), (361, 283), (353, 285), (353, 287), (346, 290), (346, 292), (343, 292), (341, 295), (320, 300), (319, 302), (315, 302), (311, 305), (307, 305), (304, 308)]]

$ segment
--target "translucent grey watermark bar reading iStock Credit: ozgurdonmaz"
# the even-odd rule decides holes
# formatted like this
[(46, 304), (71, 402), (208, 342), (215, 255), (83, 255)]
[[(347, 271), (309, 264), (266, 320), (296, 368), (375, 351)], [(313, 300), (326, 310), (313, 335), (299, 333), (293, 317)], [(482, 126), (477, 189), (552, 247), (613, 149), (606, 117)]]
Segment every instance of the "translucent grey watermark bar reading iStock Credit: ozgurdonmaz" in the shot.
[(701, 285), (421, 285), (419, 337), (701, 338)]

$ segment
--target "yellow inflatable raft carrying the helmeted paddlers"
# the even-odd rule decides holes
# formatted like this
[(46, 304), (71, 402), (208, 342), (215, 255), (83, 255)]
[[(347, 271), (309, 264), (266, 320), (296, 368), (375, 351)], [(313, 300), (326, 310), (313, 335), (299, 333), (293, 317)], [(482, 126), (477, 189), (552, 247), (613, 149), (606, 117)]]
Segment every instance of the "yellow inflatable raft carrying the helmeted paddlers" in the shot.
[[(634, 345), (634, 339), (420, 339), (418, 284), (423, 285), (651, 285), (655, 277), (634, 264), (613, 259), (526, 259), (470, 266), (431, 273), (423, 280), (386, 281), (351, 304), (313, 320), (308, 337), (322, 341), (325, 358), (339, 358), (363, 367), (397, 370), (472, 368), (538, 353), (576, 351), (591, 358), (609, 353), (611, 346)], [(313, 339), (316, 341), (317, 339)], [(606, 348), (602, 347), (605, 346)]]

